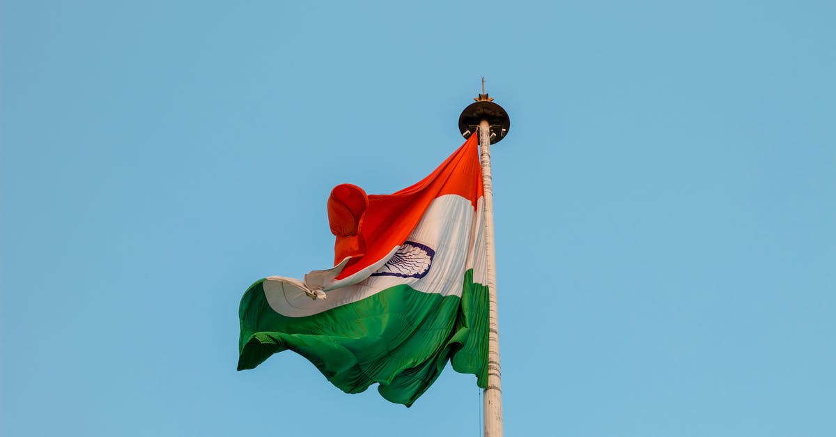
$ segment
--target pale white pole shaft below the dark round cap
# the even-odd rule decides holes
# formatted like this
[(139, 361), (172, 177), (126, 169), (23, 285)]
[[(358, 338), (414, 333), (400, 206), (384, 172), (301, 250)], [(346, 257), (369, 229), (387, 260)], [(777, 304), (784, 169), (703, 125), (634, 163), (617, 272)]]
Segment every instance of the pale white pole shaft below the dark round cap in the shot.
[(499, 368), (499, 323), (497, 321), (497, 251), (493, 240), (493, 182), (491, 177), (491, 126), (479, 123), (482, 184), (485, 188), (485, 249), (487, 251), (487, 388), (484, 393), (485, 437), (502, 437), (502, 383)]

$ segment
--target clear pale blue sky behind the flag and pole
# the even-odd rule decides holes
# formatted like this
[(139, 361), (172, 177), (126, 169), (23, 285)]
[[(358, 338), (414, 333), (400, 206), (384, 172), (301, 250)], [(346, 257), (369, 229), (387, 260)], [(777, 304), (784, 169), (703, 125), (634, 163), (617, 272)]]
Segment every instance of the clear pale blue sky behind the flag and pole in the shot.
[(833, 435), (834, 5), (4, 0), (0, 434), (479, 435), (449, 368), (235, 367), (330, 188), (426, 175), (484, 75), (506, 434)]

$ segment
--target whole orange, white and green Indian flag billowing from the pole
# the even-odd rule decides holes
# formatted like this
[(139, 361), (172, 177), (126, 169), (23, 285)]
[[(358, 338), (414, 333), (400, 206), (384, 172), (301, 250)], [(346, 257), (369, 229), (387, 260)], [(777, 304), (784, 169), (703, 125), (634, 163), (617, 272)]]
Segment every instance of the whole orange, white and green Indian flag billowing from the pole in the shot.
[(421, 182), (328, 199), (334, 267), (270, 276), (244, 293), (238, 370), (291, 350), (346, 393), (373, 383), (410, 406), (447, 361), (487, 386), (482, 168), (472, 135)]

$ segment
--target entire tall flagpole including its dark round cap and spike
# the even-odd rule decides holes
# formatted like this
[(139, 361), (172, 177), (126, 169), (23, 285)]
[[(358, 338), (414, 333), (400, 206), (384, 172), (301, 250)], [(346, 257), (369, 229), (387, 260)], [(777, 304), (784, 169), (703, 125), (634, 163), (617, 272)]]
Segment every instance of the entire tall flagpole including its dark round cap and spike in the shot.
[[(485, 92), (476, 103), (467, 106), (459, 117), (459, 130), (465, 137), (473, 131), (479, 134), (479, 157), (482, 163), (484, 186), (485, 249), (487, 252), (488, 328), (487, 328), (487, 388), (483, 393), (484, 435), (502, 437), (502, 372), (499, 366), (499, 323), (497, 319), (497, 252), (493, 237), (493, 180), (491, 175), (491, 143), (505, 137), (511, 126), (502, 106), (493, 102)], [(475, 126), (474, 126), (475, 125)]]

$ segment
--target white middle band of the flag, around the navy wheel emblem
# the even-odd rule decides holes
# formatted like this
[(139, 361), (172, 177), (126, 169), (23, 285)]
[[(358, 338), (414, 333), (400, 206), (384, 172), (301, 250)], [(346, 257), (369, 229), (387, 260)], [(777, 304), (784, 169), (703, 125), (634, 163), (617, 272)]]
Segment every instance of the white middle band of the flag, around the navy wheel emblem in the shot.
[[(415, 226), (408, 238), (410, 241), (425, 244), (436, 252), (430, 270), (423, 278), (369, 276), (357, 284), (329, 290), (327, 299), (314, 301), (298, 286), (283, 278), (271, 277), (263, 283), (264, 295), (273, 311), (291, 317), (318, 314), (403, 284), (410, 285), (415, 290), (424, 293), (461, 296), (465, 271), (469, 268), (478, 269), (482, 276), (485, 271), (482, 230), (484, 227), (480, 225), (482, 198), (479, 199), (477, 211), (480, 213), (474, 214), (473, 205), (469, 199), (456, 194), (446, 194), (432, 201), (421, 222)], [(474, 220), (475, 218), (479, 218), (479, 223), (474, 223), (477, 221)], [(393, 249), (385, 260), (389, 260), (391, 254), (394, 254), (397, 249), (397, 247)], [(380, 265), (377, 265), (375, 270), (367, 272), (367, 276), (380, 269), (385, 261), (375, 264)]]

